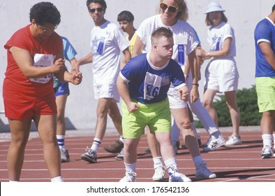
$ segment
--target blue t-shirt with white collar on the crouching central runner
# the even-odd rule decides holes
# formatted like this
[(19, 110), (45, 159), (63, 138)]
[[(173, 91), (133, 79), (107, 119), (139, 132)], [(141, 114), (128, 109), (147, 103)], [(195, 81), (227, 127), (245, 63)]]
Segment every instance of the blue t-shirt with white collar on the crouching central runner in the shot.
[(149, 54), (133, 57), (119, 73), (128, 83), (130, 97), (143, 104), (166, 99), (171, 83), (176, 89), (185, 85), (184, 73), (176, 61), (170, 59), (156, 67), (150, 62)]

